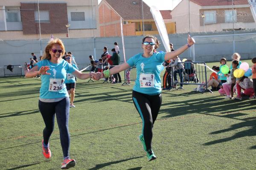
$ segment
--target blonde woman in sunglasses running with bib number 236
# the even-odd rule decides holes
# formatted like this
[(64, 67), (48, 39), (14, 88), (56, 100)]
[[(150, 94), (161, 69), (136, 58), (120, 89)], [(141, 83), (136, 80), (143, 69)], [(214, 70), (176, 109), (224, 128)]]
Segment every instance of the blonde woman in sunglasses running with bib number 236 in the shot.
[(27, 78), (41, 75), (41, 88), (38, 107), (44, 119), (42, 149), (45, 158), (51, 157), (49, 138), (54, 129), (55, 114), (60, 130), (61, 147), (64, 161), (62, 169), (68, 169), (76, 165), (74, 159), (69, 157), (70, 134), (68, 120), (70, 111), (70, 99), (64, 83), (67, 74), (73, 74), (79, 79), (94, 77), (94, 73), (84, 74), (70, 65), (61, 57), (65, 53), (65, 47), (60, 39), (50, 41), (44, 51), (41, 61), (35, 64), (28, 73)]

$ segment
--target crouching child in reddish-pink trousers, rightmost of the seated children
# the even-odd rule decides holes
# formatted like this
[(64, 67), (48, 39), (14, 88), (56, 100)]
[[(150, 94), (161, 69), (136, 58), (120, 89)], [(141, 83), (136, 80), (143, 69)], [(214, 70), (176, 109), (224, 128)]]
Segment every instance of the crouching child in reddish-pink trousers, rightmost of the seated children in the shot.
[(253, 80), (248, 77), (241, 77), (236, 84), (237, 96), (235, 99), (241, 100), (241, 89), (244, 90), (244, 95), (250, 96), (249, 99), (254, 99), (254, 91), (253, 91)]

